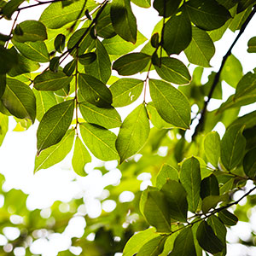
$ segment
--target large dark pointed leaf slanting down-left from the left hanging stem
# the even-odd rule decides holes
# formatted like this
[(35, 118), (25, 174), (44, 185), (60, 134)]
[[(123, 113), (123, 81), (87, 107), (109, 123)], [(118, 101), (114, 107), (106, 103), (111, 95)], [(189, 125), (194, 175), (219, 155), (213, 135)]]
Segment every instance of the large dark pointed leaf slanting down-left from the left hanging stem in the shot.
[(38, 126), (38, 155), (45, 148), (59, 143), (73, 120), (74, 101), (61, 102), (49, 108)]

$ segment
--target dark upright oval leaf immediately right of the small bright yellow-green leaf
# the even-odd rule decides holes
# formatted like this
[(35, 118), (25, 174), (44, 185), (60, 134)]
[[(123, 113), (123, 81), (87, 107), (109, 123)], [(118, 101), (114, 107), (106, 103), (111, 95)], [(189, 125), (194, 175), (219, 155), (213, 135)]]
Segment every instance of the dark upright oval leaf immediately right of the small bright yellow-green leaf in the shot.
[(224, 167), (231, 171), (241, 163), (246, 147), (246, 138), (242, 136), (244, 127), (231, 126), (224, 134), (220, 144), (220, 159)]

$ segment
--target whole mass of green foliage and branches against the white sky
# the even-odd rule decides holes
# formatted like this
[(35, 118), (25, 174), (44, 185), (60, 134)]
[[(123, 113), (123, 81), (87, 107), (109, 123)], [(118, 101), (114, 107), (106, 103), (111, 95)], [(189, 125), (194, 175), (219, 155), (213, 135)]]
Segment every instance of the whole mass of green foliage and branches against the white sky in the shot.
[[(227, 228), (238, 220), (248, 221), (246, 212), (255, 201), (256, 112), (239, 117), (238, 113), (256, 102), (256, 74), (243, 74), (231, 51), (255, 14), (256, 1), (154, 0), (161, 20), (149, 39), (137, 31), (128, 0), (20, 5), (23, 2), (0, 2), (1, 19), (13, 20), (9, 35), (0, 34), (1, 144), (9, 118), (14, 117), (23, 130), (39, 122), (34, 172), (55, 165), (73, 150), (73, 171), (80, 176), (86, 176), (84, 166), (91, 155), (117, 160), (123, 173), (118, 186), (106, 188), (108, 199), (117, 204), (113, 212), (85, 216), (84, 235), (73, 238), (72, 245), (82, 247), (81, 255), (225, 255)], [(46, 3), (38, 20), (19, 22), (24, 9), (43, 8)], [(132, 3), (151, 6), (148, 0)], [(236, 39), (227, 42), (230, 49), (218, 72), (203, 84), (202, 74), (215, 53), (213, 42), (228, 29), (238, 31)], [(255, 47), (253, 37), (248, 53), (255, 53)], [(181, 52), (196, 66), (192, 75), (177, 59)], [(38, 71), (40, 67), (44, 70)], [(130, 77), (137, 73), (138, 78)], [(208, 111), (211, 99), (222, 98), (223, 82), (236, 89), (235, 94)], [(137, 107), (122, 120), (119, 112), (136, 101)], [(198, 111), (191, 120), (192, 105)], [(226, 127), (222, 138), (212, 131), (218, 122)], [(195, 127), (191, 142), (189, 127)], [(118, 133), (113, 128), (119, 128)], [(160, 154), (163, 147), (166, 152)], [(108, 172), (104, 166), (101, 171)], [(137, 176), (143, 172), (151, 174), (153, 186), (140, 191)], [(253, 183), (251, 189), (248, 183)], [(126, 190), (135, 198), (120, 202), (119, 194)], [(234, 200), (240, 190), (244, 194)], [(74, 199), (68, 204), (72, 211), (60, 212), (61, 202), (55, 202), (55, 221), (49, 222), (39, 210), (26, 209), (21, 191), (2, 195), (2, 228), (18, 227), (20, 236), (0, 255), (15, 247), (32, 255), (32, 241), (40, 237), (37, 230), (62, 232), (83, 204)], [(244, 198), (247, 203), (241, 207)], [(15, 210), (10, 212), (9, 207)], [(14, 214), (26, 221), (12, 221)], [(94, 241), (88, 240), (90, 233), (95, 233)], [(241, 243), (253, 246), (253, 236)]]

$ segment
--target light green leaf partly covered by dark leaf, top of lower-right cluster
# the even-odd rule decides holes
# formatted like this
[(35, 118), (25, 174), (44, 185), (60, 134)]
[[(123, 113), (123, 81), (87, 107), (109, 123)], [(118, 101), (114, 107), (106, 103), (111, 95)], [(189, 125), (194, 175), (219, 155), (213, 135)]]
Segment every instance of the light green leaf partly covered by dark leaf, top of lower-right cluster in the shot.
[(161, 189), (162, 186), (166, 183), (167, 179), (171, 179), (178, 182), (178, 172), (175, 168), (168, 164), (163, 164), (160, 168), (156, 177), (155, 186), (158, 189)]

